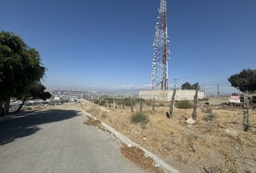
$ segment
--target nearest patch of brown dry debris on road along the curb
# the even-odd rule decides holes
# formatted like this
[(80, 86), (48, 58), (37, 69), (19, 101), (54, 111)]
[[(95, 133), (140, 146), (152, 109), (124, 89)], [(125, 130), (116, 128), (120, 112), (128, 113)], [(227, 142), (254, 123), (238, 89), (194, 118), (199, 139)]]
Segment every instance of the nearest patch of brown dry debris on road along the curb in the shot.
[(121, 147), (121, 154), (123, 154), (123, 156), (135, 163), (137, 166), (145, 169), (147, 172), (164, 173), (163, 169), (161, 169), (158, 164), (155, 164), (153, 159), (150, 157), (145, 157), (145, 152), (137, 146), (124, 145)]

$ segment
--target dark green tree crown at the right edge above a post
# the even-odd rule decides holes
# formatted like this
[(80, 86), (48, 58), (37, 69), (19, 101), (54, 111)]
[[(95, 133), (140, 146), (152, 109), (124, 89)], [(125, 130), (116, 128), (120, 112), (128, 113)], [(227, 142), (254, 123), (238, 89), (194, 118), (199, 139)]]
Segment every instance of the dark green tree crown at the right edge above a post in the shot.
[(231, 86), (241, 92), (255, 92), (256, 90), (256, 70), (244, 69), (239, 74), (229, 77)]

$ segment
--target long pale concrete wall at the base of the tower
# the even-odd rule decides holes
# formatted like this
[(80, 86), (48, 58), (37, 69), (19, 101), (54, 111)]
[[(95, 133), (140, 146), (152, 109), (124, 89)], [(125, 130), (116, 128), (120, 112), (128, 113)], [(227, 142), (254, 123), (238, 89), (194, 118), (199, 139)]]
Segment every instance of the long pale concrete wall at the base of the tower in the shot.
[[(148, 91), (140, 91), (139, 97), (142, 99), (153, 99), (158, 101), (171, 101), (171, 97), (174, 90), (148, 90)], [(195, 96), (195, 90), (187, 90), (187, 89), (178, 89), (176, 90), (176, 100), (193, 100)], [(198, 99), (202, 99), (205, 97), (204, 92), (198, 92)]]

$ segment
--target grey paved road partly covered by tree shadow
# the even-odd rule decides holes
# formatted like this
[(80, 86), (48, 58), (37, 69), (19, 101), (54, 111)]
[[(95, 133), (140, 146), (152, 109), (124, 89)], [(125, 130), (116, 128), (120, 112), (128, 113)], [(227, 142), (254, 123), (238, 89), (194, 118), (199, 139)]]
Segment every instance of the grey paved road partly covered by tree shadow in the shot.
[(0, 172), (142, 172), (120, 153), (120, 141), (84, 125), (78, 105), (0, 120)]

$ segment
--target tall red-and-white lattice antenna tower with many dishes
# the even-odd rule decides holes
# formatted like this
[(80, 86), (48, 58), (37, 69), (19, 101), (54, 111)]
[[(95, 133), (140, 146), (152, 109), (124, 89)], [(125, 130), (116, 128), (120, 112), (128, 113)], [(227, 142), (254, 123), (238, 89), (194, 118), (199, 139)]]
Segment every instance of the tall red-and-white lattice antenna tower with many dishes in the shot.
[(154, 58), (152, 63), (152, 89), (168, 89), (168, 33), (166, 20), (166, 0), (161, 0), (158, 22), (155, 26)]

